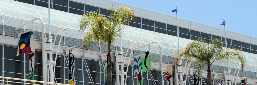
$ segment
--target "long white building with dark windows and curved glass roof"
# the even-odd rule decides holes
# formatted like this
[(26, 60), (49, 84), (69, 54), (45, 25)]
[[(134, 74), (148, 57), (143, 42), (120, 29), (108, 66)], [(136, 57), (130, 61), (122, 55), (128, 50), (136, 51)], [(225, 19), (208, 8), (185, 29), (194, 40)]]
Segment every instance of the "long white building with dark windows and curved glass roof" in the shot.
[[(75, 79), (77, 85), (91, 84), (89, 79), (89, 73), (92, 75), (92, 79), (95, 85), (104, 84), (104, 71), (102, 58), (100, 55), (108, 52), (107, 45), (101, 43), (94, 43), (89, 47), (89, 50), (82, 49), (82, 40), (87, 33), (87, 30), (79, 30), (78, 22), (82, 14), (89, 11), (97, 11), (106, 17), (110, 16), (111, 11), (108, 8), (111, 5), (118, 8), (118, 3), (108, 0), (51, 0), (51, 33), (56, 33), (58, 27), (66, 28), (64, 37), (61, 40), (61, 51), (58, 54), (61, 56), (57, 59), (56, 66), (56, 82), (67, 84), (68, 81), (68, 67), (67, 67), (67, 55), (64, 49), (77, 46), (74, 49), (75, 55)], [(126, 26), (125, 33), (122, 35), (123, 49), (127, 50), (129, 42), (136, 42), (134, 47), (139, 47), (146, 43), (157, 41), (162, 47), (162, 61), (164, 64), (172, 64), (174, 55), (178, 50), (177, 45), (177, 29), (176, 29), (176, 17), (165, 14), (156, 13), (146, 9), (133, 7), (130, 5), (121, 4), (121, 6), (127, 6), (134, 10), (136, 18), (135, 21), (129, 22)], [(33, 28), (34, 38), (36, 40), (35, 51), (35, 80), (41, 80), (42, 74), (42, 33), (41, 23), (39, 21), (33, 22), (15, 30), (16, 27), (32, 20), (36, 17), (43, 19), (45, 23), (46, 37), (48, 37), (48, 0), (0, 0), (0, 76), (14, 77), (28, 79), (28, 54), (19, 55), (17, 53), (17, 34), (25, 30)], [(186, 45), (192, 40), (202, 39), (206, 42), (210, 42), (212, 39), (217, 38), (225, 42), (224, 30), (205, 24), (185, 20), (178, 18), (179, 36), (180, 36), (180, 48), (186, 47)], [(55, 36), (55, 34), (52, 34)], [(239, 34), (236, 32), (227, 31), (227, 45), (228, 47), (238, 48), (243, 51), (246, 56), (246, 67), (240, 70), (239, 77), (248, 77), (248, 84), (255, 85), (257, 82), (257, 38)], [(60, 36), (57, 36), (58, 44)], [(119, 51), (119, 40), (113, 43), (111, 46), (112, 56), (115, 51)], [(155, 82), (157, 85), (161, 85), (160, 76), (160, 53), (157, 45), (146, 46), (143, 49), (139, 49), (133, 52), (133, 55), (144, 53), (145, 51), (151, 51), (152, 67), (150, 72), (143, 73), (143, 82), (146, 85), (152, 85)], [(130, 51), (128, 51), (130, 52)], [(56, 51), (55, 51), (56, 53)], [(106, 58), (106, 57), (105, 57)], [(113, 57), (115, 58), (115, 57)], [(48, 58), (49, 59), (49, 58)], [(115, 62), (115, 61), (113, 61)], [(239, 61), (230, 61), (231, 74), (234, 74), (235, 67)], [(186, 61), (183, 61), (184, 66)], [(88, 67), (88, 68), (87, 68)], [(227, 71), (226, 62), (216, 61), (211, 71), (214, 74)], [(136, 76), (132, 75), (132, 65), (128, 67), (128, 85), (136, 85)], [(190, 69), (194, 69), (194, 61)], [(203, 67), (202, 75), (200, 75), (201, 85), (207, 82), (206, 71), (207, 67)], [(153, 78), (150, 77), (150, 73)], [(115, 64), (113, 63), (113, 84), (115, 85)], [(190, 78), (187, 79), (187, 85), (193, 85)], [(131, 82), (132, 81), (132, 82)], [(20, 81), (22, 82), (22, 81)], [(166, 81), (165, 81), (166, 82)], [(0, 82), (0, 84), (3, 82)], [(213, 84), (216, 80), (213, 80)], [(239, 81), (238, 81), (239, 83)], [(216, 85), (216, 84), (214, 84)]]

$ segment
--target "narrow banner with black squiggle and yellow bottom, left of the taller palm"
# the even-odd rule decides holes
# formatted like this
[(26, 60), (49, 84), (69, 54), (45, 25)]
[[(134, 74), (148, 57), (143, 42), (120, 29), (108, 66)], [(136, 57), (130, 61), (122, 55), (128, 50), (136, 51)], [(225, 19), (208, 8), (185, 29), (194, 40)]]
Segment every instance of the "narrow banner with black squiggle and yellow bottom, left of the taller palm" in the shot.
[(68, 81), (68, 84), (70, 84), (70, 85), (76, 85), (75, 84), (75, 76), (74, 76), (74, 60), (75, 60), (75, 57), (72, 54), (72, 50), (70, 50), (70, 53), (69, 53), (69, 81)]

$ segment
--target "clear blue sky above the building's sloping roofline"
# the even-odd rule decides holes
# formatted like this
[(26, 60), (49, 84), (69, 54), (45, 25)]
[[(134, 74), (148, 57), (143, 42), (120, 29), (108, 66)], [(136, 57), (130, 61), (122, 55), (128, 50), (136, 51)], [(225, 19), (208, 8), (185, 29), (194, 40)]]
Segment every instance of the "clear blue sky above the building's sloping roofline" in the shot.
[[(113, 0), (118, 1), (118, 0)], [(257, 37), (257, 0), (120, 0), (120, 3)]]

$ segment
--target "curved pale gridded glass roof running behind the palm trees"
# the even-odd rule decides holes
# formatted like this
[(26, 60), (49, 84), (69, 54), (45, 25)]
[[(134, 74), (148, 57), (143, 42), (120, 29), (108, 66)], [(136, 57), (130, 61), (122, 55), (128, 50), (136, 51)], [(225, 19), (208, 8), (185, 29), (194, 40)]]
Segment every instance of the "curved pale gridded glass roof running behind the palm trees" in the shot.
[[(41, 17), (45, 23), (45, 31), (48, 33), (48, 8), (21, 3), (12, 0), (0, 0), (0, 24), (6, 26), (17, 27), (23, 23), (28, 22), (36, 17)], [(67, 13), (51, 9), (51, 33), (56, 33), (58, 27), (66, 28), (64, 33), (65, 37), (76, 38), (83, 40), (87, 31), (80, 31), (78, 22), (81, 15)], [(25, 29), (34, 27), (34, 31), (41, 32), (41, 24), (39, 21), (33, 22), (25, 26)], [(117, 39), (119, 41), (119, 39)], [(128, 47), (129, 41), (136, 42), (135, 47), (157, 41), (162, 47), (163, 55), (174, 57), (176, 54), (178, 45), (177, 37), (167, 34), (161, 34), (153, 31), (143, 30), (131, 26), (126, 26), (125, 33), (122, 35), (123, 47)], [(192, 40), (180, 38), (180, 49), (186, 47), (186, 45)], [(115, 42), (115, 46), (119, 46), (119, 42)], [(149, 46), (152, 53), (159, 54), (159, 48), (157, 45)], [(148, 51), (148, 46), (140, 49), (140, 51)], [(119, 48), (119, 47), (117, 47)], [(246, 71), (257, 72), (257, 55), (253, 53), (243, 52), (246, 56)], [(230, 61), (230, 67), (235, 68), (238, 60)], [(214, 65), (227, 67), (226, 62), (216, 61)], [(254, 74), (256, 75), (256, 73)], [(256, 78), (255, 78), (256, 79)]]

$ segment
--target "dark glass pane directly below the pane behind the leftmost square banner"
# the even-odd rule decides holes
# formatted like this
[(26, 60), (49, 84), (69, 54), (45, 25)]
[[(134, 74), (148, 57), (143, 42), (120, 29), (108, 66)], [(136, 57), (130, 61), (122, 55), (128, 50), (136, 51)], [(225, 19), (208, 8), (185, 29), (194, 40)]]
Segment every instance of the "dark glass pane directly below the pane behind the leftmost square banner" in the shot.
[(24, 62), (4, 59), (4, 71), (24, 73)]

